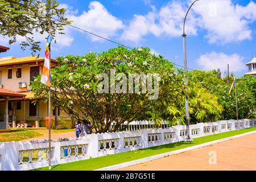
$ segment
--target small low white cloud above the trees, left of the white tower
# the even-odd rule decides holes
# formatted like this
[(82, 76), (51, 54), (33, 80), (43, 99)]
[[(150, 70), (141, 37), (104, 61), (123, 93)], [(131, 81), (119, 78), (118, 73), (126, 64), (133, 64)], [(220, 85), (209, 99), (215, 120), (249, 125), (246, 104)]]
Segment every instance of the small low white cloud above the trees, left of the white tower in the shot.
[(224, 73), (229, 64), (230, 72), (241, 72), (244, 71), (245, 64), (243, 63), (243, 57), (234, 53), (233, 55), (226, 55), (223, 52), (210, 52), (205, 55), (201, 55), (197, 59), (197, 63), (205, 71), (210, 71), (212, 69), (220, 68), (221, 72)]

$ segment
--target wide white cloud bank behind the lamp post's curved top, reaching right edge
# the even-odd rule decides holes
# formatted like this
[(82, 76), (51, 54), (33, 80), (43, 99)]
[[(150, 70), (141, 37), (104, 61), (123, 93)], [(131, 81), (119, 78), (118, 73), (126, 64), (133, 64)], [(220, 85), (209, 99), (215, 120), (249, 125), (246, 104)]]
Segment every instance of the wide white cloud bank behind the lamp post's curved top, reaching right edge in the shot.
[[(138, 43), (143, 36), (177, 37), (182, 34), (183, 20), (191, 0), (170, 1), (159, 10), (155, 7), (146, 15), (134, 15), (121, 38)], [(234, 5), (231, 0), (200, 0), (193, 5), (187, 16), (185, 33), (197, 35), (206, 30), (209, 43), (226, 44), (250, 40), (249, 24), (256, 20), (256, 4)]]

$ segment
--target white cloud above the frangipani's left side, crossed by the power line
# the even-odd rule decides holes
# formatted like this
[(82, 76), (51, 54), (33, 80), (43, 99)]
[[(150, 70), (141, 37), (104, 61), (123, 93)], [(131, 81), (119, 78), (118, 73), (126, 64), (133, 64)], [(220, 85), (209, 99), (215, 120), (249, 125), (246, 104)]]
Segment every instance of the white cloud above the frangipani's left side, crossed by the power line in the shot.
[[(123, 28), (121, 20), (109, 13), (109, 11), (97, 1), (90, 2), (89, 10), (83, 11), (81, 15), (69, 15), (73, 20), (73, 26), (93, 32), (105, 38), (110, 38)], [(102, 40), (96, 36), (90, 36), (93, 41)]]

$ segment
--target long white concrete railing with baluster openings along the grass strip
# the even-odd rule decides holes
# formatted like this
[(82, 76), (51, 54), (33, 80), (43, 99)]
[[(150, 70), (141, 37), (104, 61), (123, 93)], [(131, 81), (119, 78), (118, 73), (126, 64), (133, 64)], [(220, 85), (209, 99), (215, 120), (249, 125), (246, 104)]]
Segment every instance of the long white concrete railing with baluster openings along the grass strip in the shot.
[[(191, 137), (197, 138), (255, 125), (256, 119), (241, 119), (238, 123), (231, 119), (198, 123), (191, 125), (190, 129)], [(180, 125), (159, 129), (142, 127), (137, 131), (91, 134), (79, 139), (52, 140), (52, 165), (179, 142), (185, 138), (186, 126)], [(48, 166), (48, 154), (47, 141), (0, 143), (0, 169), (27, 170), (46, 167)]]

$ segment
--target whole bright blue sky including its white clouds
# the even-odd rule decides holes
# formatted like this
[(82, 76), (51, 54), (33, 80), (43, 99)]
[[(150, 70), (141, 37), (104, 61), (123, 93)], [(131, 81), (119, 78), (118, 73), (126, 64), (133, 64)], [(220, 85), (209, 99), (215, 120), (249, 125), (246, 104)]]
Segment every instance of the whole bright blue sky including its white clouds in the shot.
[[(191, 1), (119, 0), (84, 1), (59, 0), (73, 24), (84, 30), (105, 36), (129, 47), (150, 47), (170, 61), (183, 65), (182, 22)], [(200, 0), (189, 12), (186, 24), (188, 67), (217, 69), (242, 76), (246, 63), (256, 55), (256, 3), (247, 0)], [(42, 35), (40, 56), (44, 56)], [(9, 46), (6, 39), (0, 39)], [(3, 56), (28, 56), (18, 43)], [(65, 36), (57, 36), (52, 44), (52, 57), (84, 55), (88, 51), (102, 52), (116, 44), (66, 28)]]

